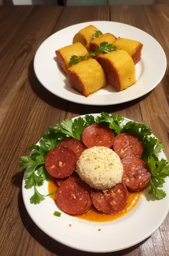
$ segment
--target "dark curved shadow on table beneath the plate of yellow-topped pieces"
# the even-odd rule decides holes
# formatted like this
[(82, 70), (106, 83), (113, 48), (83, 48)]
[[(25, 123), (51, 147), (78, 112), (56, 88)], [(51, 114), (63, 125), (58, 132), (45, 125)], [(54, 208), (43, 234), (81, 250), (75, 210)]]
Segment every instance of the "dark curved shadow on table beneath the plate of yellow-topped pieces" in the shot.
[(34, 72), (34, 59), (30, 62), (29, 65), (29, 71), (28, 71), (28, 77), (29, 77), (29, 83), (31, 85), (32, 90), (34, 93), (43, 101), (45, 101), (47, 104), (70, 112), (70, 113), (75, 113), (79, 115), (83, 114), (91, 114), (91, 113), (101, 113), (103, 112), (117, 112), (122, 109), (129, 108), (130, 106), (133, 106), (143, 99), (147, 98), (147, 96), (151, 93), (148, 93), (138, 99), (128, 101), (126, 103), (122, 104), (117, 104), (117, 105), (108, 105), (108, 106), (91, 106), (91, 105), (83, 105), (83, 104), (78, 104), (78, 103), (73, 103), (70, 101), (63, 100), (56, 95), (50, 93), (41, 83), (38, 81), (36, 78), (35, 72)]

